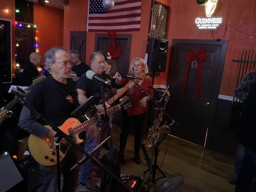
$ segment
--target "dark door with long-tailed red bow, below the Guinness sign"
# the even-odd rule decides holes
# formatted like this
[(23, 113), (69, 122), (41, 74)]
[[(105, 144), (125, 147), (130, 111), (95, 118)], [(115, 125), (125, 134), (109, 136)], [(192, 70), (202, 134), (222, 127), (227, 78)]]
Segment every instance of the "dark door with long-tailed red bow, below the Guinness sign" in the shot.
[[(201, 94), (195, 101), (197, 63), (192, 62), (188, 80), (181, 99), (181, 88), (186, 71), (186, 54), (190, 48), (198, 51), (205, 47), (207, 60), (203, 62)], [(219, 88), (221, 83), (227, 41), (173, 39), (169, 66), (168, 85), (170, 101), (166, 111), (180, 125), (173, 135), (205, 146), (207, 130), (213, 129)]]

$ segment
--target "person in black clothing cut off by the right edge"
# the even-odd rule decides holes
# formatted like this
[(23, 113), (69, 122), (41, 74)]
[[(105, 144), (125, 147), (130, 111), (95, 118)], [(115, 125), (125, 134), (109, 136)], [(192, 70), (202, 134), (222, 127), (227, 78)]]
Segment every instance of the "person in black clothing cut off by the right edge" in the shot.
[(244, 159), (239, 169), (235, 192), (249, 192), (256, 174), (256, 82), (246, 98), (236, 139), (244, 145)]

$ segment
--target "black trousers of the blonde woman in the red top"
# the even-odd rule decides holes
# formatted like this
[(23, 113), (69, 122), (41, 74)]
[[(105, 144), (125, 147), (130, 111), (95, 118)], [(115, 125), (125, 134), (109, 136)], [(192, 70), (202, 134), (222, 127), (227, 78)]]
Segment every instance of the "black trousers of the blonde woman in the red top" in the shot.
[(122, 132), (120, 134), (120, 150), (124, 150), (127, 142), (128, 132), (134, 122), (134, 150), (139, 151), (141, 146), (142, 130), (145, 113), (128, 117), (126, 110), (122, 110)]

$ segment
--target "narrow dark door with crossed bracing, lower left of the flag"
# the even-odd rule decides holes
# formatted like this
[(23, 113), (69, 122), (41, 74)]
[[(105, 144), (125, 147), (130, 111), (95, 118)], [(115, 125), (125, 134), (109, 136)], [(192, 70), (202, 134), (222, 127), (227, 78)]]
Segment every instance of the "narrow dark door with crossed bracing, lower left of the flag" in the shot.
[(85, 45), (86, 31), (71, 31), (70, 32), (70, 50), (76, 49), (80, 52), (80, 57), (85, 62)]

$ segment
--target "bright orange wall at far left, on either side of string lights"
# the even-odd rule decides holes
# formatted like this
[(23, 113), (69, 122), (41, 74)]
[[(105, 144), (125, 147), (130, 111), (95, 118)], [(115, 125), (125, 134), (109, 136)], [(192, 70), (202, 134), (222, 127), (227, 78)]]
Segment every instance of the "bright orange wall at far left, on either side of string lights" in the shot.
[[(0, 18), (12, 21), (12, 74), (15, 72), (15, 0), (0, 0), (0, 8), (8, 8), (9, 12), (0, 9)], [(63, 46), (64, 10), (41, 6), (34, 3), (34, 24), (37, 24), (39, 52), (44, 56), (52, 46)], [(44, 58), (43, 58), (44, 62)]]

